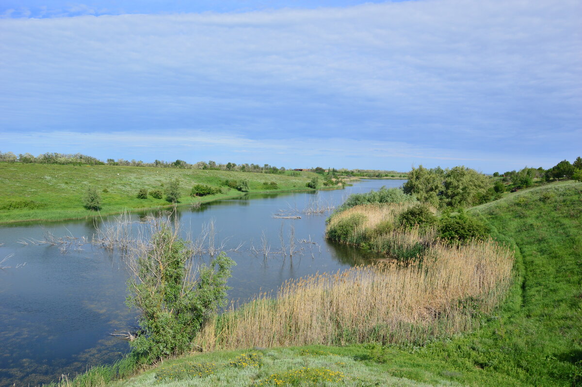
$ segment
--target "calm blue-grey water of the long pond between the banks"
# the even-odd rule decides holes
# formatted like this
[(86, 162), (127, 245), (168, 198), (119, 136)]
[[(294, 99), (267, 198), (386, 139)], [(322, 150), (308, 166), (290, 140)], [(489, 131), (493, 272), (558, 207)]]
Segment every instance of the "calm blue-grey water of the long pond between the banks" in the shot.
[[(324, 239), (329, 212), (307, 215), (304, 210), (338, 205), (351, 193), (403, 183), (361, 180), (344, 190), (250, 194), (201, 208), (178, 207), (173, 216), (184, 236), (193, 239), (214, 223), (215, 246), (231, 250), (228, 255), (237, 263), (228, 282), (229, 297), (244, 301), (276, 290), (288, 279), (371, 262), (374, 254)], [(275, 218), (276, 214), (301, 219)], [(132, 220), (144, 215), (132, 214)], [(73, 239), (91, 239), (95, 226), (107, 226), (114, 218), (0, 226), (0, 261), (8, 257), (0, 263), (5, 267), (0, 269), (0, 386), (46, 384), (62, 374), (73, 377), (128, 352), (127, 342), (108, 335), (137, 324), (135, 311), (125, 304), (129, 278), (125, 264), (118, 253)], [(289, 257), (292, 229), (296, 253)], [(281, 233), (286, 256), (281, 252)], [(73, 243), (67, 248), (30, 243), (50, 235)], [(270, 250), (267, 258), (262, 240)]]

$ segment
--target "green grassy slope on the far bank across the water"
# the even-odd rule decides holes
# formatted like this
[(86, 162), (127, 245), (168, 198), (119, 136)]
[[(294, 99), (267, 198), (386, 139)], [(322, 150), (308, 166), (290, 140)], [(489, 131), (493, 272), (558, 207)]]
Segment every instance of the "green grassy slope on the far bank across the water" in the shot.
[[(168, 205), (164, 199), (136, 198), (140, 188), (164, 189), (160, 184), (179, 179), (182, 204), (210, 201), (217, 198), (240, 196), (237, 190), (222, 187), (225, 193), (204, 198), (191, 198), (194, 183), (219, 186), (225, 179), (246, 179), (251, 192), (264, 191), (263, 182), (276, 182), (278, 191), (305, 190), (312, 172), (299, 172), (300, 176), (272, 175), (228, 171), (202, 171), (197, 169), (150, 168), (136, 166), (74, 166), (48, 164), (20, 164), (0, 162), (0, 207), (13, 200), (33, 200), (42, 205), (36, 210), (0, 210), (0, 223), (26, 220), (58, 220), (84, 218), (95, 215), (83, 208), (83, 197), (88, 187), (97, 188), (101, 194), (101, 214), (111, 214), (125, 208), (155, 208)], [(102, 192), (107, 189), (108, 192)], [(273, 192), (275, 190), (269, 190)]]

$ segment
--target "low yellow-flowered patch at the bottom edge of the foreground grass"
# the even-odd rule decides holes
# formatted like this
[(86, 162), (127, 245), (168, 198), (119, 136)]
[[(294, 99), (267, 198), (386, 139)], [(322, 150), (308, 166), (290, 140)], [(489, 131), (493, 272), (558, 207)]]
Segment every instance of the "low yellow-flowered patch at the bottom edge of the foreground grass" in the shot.
[(288, 385), (313, 385), (321, 382), (339, 383), (345, 378), (343, 372), (327, 370), (326, 368), (303, 367), (298, 370), (290, 370), (282, 374), (272, 374), (268, 378), (255, 383), (256, 386), (288, 386)]

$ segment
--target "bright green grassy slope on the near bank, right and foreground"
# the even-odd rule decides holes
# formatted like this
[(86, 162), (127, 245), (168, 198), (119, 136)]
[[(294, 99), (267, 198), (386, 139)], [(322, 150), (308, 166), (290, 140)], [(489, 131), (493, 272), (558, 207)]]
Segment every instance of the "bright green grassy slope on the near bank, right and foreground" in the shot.
[[(512, 291), (499, 313), (482, 317), (480, 331), (423, 348), (389, 347), (382, 356), (363, 345), (308, 347), (340, 356), (317, 357), (317, 364), (299, 349), (270, 349), (263, 351), (267, 361), (260, 370), (221, 368), (207, 379), (155, 385), (249, 386), (272, 372), (314, 364), (346, 375), (345, 382), (332, 385), (580, 385), (582, 370), (575, 364), (582, 357), (582, 184), (521, 191), (472, 211), (517, 255)], [(242, 352), (175, 361), (214, 361), (220, 367)], [(153, 386), (155, 372), (113, 385)]]

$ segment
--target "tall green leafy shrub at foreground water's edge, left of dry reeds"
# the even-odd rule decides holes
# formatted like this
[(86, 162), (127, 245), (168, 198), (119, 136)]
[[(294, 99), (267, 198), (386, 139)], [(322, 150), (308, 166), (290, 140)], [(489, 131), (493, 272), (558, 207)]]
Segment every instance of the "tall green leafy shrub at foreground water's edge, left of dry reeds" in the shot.
[(225, 304), (226, 281), (235, 262), (221, 253), (210, 267), (198, 269), (198, 281), (193, 282), (187, 267), (191, 252), (176, 232), (162, 224), (150, 244), (137, 261), (127, 303), (140, 311), (144, 331), (130, 346), (151, 363), (190, 349), (204, 318)]

